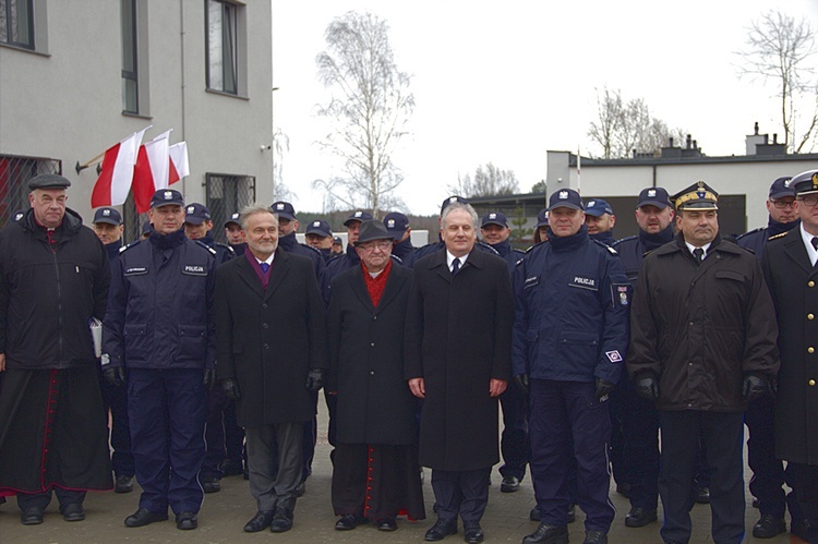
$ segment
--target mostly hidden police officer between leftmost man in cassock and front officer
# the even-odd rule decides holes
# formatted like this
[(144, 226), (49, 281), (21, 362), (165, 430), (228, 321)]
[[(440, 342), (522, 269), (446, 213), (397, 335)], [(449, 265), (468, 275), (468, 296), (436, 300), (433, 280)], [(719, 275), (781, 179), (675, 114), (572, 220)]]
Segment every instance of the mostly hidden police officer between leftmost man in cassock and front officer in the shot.
[[(99, 208), (94, 213), (94, 232), (105, 245), (111, 269), (122, 250), (122, 216), (116, 208)], [(124, 387), (112, 387), (99, 371), (99, 386), (103, 389), (105, 413), (110, 410), (111, 468), (116, 475), (113, 491), (131, 493), (133, 491), (133, 455), (131, 454), (131, 430), (128, 425), (128, 399)]]

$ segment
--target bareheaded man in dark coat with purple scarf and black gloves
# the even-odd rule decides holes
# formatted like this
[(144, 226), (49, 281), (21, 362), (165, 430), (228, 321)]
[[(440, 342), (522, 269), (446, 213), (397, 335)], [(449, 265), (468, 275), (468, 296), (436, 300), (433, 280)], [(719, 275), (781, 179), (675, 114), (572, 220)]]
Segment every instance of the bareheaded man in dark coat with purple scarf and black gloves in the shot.
[(312, 262), (278, 247), (273, 210), (249, 206), (240, 220), (248, 247), (216, 273), (217, 376), (246, 434), (258, 511), (244, 531), (284, 532), (303, 470), (303, 426), (324, 382), (324, 305)]

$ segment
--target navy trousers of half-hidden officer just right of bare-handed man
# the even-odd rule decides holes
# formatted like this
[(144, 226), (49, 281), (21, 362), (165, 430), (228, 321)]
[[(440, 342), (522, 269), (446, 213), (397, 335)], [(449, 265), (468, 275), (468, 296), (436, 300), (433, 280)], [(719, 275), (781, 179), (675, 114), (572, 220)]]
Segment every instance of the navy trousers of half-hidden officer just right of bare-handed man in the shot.
[(500, 473), (504, 477), (515, 476), (522, 481), (531, 455), (526, 396), (516, 384), (509, 384), (500, 396), (500, 403), (503, 407), (503, 434), (500, 439), (503, 464), (500, 467)]

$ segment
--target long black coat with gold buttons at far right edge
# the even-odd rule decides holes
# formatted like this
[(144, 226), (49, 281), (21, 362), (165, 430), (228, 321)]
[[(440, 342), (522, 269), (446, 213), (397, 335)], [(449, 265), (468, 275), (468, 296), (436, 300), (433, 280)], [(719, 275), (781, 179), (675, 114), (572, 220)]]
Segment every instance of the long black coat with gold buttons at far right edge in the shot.
[(775, 455), (818, 464), (818, 268), (809, 262), (801, 229), (770, 240), (761, 266), (775, 304), (781, 350)]

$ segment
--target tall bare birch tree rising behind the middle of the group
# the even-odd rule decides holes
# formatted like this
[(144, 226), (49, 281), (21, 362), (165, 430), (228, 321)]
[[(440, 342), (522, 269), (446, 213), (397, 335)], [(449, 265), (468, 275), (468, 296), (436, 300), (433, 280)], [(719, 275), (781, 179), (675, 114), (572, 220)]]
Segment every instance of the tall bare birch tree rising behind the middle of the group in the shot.
[(344, 176), (315, 180), (313, 188), (330, 193), (349, 208), (372, 209), (377, 217), (404, 180), (393, 153), (414, 109), (410, 76), (398, 70), (386, 21), (350, 11), (335, 19), (324, 37), (327, 50), (315, 59), (318, 78), (330, 89), (318, 114), (332, 126), (318, 142), (344, 160)]

